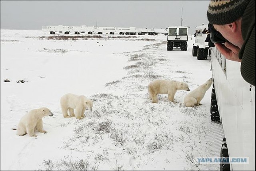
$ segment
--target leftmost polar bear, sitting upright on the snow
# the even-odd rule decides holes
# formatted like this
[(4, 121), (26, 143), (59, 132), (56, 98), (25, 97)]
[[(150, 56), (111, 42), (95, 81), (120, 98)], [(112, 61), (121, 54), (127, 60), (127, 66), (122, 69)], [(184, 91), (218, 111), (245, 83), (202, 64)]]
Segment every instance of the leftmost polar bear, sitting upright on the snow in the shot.
[[(46, 134), (47, 132), (43, 129), (43, 120), (44, 116), (52, 116), (52, 112), (48, 108), (39, 108), (30, 110), (25, 114), (18, 124), (17, 135), (24, 136), (28, 134), (30, 137), (36, 137), (34, 133), (36, 130)], [(13, 128), (13, 130), (16, 130)]]

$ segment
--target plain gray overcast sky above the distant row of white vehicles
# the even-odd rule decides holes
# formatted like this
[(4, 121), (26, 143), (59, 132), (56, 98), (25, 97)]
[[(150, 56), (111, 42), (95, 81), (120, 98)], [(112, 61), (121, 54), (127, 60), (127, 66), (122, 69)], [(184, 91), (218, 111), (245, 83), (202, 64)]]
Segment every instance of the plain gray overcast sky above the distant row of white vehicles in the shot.
[(203, 1), (4, 1), (1, 28), (42, 29), (42, 26), (106, 26), (167, 28), (190, 26), (190, 33), (208, 24), (209, 0)]

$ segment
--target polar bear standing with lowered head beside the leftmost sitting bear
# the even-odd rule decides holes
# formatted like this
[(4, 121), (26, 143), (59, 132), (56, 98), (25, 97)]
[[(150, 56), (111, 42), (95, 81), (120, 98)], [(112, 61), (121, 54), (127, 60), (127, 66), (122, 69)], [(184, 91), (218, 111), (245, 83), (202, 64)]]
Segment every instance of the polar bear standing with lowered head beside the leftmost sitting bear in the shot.
[[(92, 100), (83, 95), (78, 96), (68, 93), (60, 98), (60, 106), (64, 118), (76, 116), (76, 119), (81, 119), (84, 117), (84, 111), (87, 108), (92, 111), (92, 105)], [(76, 109), (76, 113), (74, 113), (74, 109)], [(70, 116), (68, 116), (68, 111)]]

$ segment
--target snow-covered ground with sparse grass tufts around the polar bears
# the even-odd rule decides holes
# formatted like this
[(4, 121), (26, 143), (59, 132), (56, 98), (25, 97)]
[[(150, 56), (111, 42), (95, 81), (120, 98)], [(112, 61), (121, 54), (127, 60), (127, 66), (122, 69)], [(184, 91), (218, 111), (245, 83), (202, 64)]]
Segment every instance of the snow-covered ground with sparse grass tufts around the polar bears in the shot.
[[(166, 94), (157, 104), (148, 98), (155, 79), (183, 81), (193, 90), (212, 77), (210, 62), (192, 57), (191, 37), (187, 51), (167, 51), (164, 35), (50, 36), (1, 29), (1, 170), (219, 168), (196, 159), (220, 152), (210, 142), (211, 88), (194, 108), (184, 107), (184, 90), (174, 102)], [(81, 120), (64, 118), (66, 93), (92, 99), (93, 111)], [(54, 114), (43, 118), (48, 134), (17, 136), (12, 128), (20, 118), (41, 107)]]

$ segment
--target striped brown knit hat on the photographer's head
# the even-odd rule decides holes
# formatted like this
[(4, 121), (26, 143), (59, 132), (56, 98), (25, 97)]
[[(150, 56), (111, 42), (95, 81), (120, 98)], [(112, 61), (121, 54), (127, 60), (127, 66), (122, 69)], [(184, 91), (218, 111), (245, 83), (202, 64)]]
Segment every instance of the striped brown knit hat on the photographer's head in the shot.
[(249, 2), (249, 0), (211, 0), (207, 18), (212, 24), (230, 24), (243, 16)]

